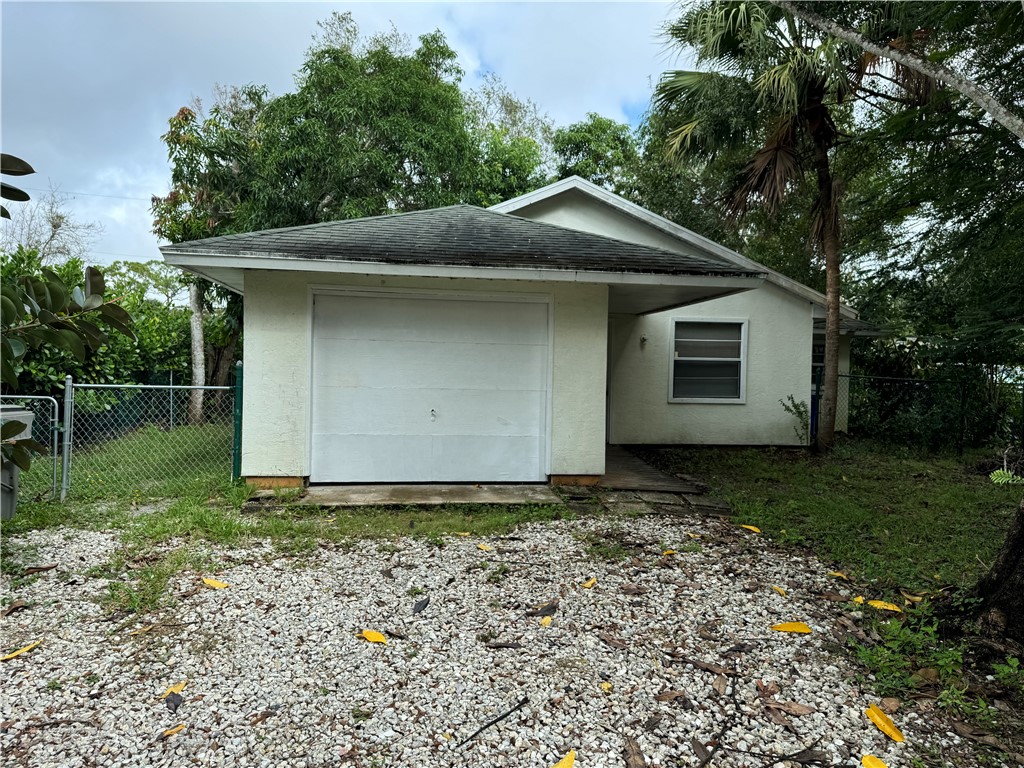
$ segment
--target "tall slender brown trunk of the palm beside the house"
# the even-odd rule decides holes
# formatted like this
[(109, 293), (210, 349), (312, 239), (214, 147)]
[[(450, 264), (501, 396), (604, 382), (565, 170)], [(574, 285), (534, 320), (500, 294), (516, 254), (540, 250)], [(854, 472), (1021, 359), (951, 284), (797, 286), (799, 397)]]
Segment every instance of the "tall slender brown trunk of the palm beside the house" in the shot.
[(836, 439), (836, 400), (839, 394), (840, 239), (839, 199), (828, 163), (828, 146), (816, 140), (814, 166), (818, 176), (820, 245), (825, 257), (825, 360), (818, 403), (817, 447), (827, 451)]

